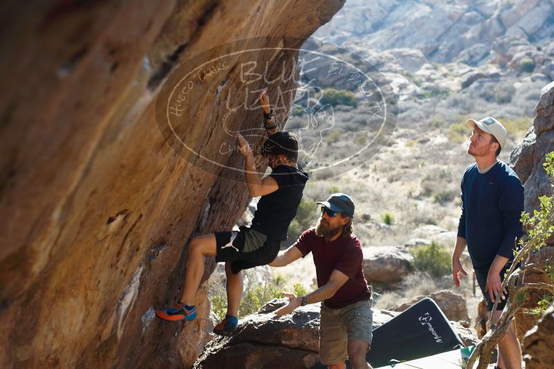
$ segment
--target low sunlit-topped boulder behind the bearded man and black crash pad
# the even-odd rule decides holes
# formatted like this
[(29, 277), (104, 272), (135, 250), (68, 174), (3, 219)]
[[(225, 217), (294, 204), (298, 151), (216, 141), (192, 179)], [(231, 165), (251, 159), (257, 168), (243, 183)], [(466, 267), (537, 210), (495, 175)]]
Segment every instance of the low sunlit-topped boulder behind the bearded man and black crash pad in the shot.
[[(320, 306), (306, 305), (293, 314), (271, 313), (286, 300), (271, 301), (261, 311), (239, 321), (232, 337), (217, 337), (207, 344), (194, 368), (310, 368), (319, 360)], [(398, 312), (373, 310), (373, 329)], [(471, 331), (452, 323), (466, 345), (476, 342)]]

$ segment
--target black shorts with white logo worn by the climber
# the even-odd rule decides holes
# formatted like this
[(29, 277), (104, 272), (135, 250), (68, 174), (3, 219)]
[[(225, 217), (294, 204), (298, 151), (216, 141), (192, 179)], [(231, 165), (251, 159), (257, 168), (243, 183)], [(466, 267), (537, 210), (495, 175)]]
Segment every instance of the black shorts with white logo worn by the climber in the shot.
[(279, 254), (281, 240), (268, 238), (248, 227), (238, 231), (215, 232), (216, 261), (230, 261), (231, 272), (268, 265)]

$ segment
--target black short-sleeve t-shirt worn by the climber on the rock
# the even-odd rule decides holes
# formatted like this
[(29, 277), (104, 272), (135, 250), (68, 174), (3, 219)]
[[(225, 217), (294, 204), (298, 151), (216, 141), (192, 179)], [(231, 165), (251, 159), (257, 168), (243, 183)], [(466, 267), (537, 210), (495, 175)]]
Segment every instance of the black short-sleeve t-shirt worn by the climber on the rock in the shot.
[(279, 165), (270, 176), (275, 178), (279, 189), (261, 196), (252, 219), (252, 229), (266, 234), (268, 238), (286, 240), (286, 231), (296, 216), (308, 173), (300, 166), (296, 169)]

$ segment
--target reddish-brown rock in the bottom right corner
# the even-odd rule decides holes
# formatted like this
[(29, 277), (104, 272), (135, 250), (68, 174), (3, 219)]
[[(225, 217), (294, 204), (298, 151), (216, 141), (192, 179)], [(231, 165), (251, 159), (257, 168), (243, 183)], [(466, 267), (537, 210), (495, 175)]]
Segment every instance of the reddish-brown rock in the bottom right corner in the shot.
[(550, 368), (554, 363), (554, 305), (546, 310), (539, 323), (527, 332), (524, 360), (527, 369)]

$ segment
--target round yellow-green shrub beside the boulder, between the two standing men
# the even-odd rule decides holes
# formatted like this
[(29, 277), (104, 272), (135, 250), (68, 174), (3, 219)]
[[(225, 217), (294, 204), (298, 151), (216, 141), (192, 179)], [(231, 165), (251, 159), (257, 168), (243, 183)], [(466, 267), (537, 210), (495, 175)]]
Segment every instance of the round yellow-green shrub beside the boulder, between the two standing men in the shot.
[(409, 253), (414, 257), (414, 265), (421, 272), (440, 277), (452, 270), (452, 258), (447, 250), (438, 243), (413, 247)]

